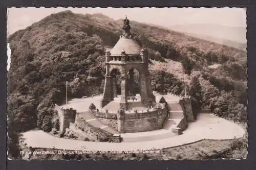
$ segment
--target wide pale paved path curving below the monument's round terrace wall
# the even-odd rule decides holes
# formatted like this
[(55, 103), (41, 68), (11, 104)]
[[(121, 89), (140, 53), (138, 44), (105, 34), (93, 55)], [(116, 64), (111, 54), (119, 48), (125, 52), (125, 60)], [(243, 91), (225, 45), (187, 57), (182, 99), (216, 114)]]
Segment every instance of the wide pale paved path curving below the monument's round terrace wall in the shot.
[[(141, 132), (143, 133), (143, 132)], [(148, 132), (147, 132), (148, 133)], [(155, 132), (153, 132), (155, 133)], [(74, 139), (65, 139), (51, 136), (48, 133), (39, 130), (33, 130), (23, 133), (25, 142), (33, 148), (56, 148), (66, 150), (84, 150), (88, 151), (135, 151), (137, 149), (164, 149), (176, 147), (182, 144), (196, 142), (202, 139), (224, 140), (243, 137), (245, 131), (237, 124), (231, 123), (220, 117), (210, 114), (199, 114), (195, 123), (189, 123), (188, 128), (179, 136), (170, 136), (168, 138), (140, 141), (140, 142), (88, 142)], [(136, 133), (136, 135), (139, 135)], [(143, 135), (141, 135), (143, 136)]]

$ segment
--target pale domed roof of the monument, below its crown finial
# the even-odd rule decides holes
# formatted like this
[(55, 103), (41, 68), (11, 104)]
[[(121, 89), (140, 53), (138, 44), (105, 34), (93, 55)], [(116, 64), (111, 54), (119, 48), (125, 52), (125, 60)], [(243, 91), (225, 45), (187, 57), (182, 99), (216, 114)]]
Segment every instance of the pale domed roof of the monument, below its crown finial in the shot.
[(122, 51), (125, 51), (127, 55), (139, 55), (141, 47), (130, 37), (122, 36), (111, 50), (111, 56), (120, 56)]

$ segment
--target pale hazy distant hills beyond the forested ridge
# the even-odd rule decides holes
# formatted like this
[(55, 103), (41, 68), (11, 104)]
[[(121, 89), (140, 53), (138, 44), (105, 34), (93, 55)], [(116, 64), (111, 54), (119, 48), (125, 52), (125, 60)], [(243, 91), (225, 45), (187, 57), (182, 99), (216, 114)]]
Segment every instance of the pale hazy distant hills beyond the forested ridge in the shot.
[(190, 24), (169, 27), (170, 30), (211, 42), (246, 50), (246, 28), (212, 24)]

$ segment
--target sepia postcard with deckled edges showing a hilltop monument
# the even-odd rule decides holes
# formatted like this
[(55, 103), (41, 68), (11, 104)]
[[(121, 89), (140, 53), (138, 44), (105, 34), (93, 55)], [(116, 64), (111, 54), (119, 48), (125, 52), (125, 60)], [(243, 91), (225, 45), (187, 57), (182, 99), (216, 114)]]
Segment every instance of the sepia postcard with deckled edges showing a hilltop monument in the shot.
[(7, 10), (8, 159), (246, 159), (246, 8)]

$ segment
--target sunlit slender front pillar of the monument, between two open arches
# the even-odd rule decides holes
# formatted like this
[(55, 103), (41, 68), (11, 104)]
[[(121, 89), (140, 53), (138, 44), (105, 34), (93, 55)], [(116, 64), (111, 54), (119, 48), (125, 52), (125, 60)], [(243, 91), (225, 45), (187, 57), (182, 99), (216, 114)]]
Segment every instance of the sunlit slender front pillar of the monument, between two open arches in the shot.
[(127, 75), (121, 75), (121, 101), (120, 101), (120, 109), (127, 109)]

